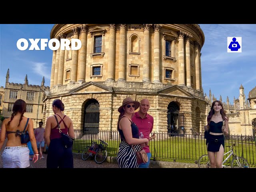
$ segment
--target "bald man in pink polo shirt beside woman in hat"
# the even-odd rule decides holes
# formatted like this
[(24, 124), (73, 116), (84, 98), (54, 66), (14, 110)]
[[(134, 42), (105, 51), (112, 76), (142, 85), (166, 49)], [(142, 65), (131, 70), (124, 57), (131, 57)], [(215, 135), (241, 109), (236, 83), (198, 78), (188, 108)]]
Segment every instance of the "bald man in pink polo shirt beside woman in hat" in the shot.
[[(150, 137), (150, 133), (152, 132), (153, 129), (153, 124), (154, 124), (154, 118), (148, 114), (148, 110), (150, 108), (150, 103), (147, 99), (142, 99), (140, 101), (140, 109), (138, 112), (135, 112), (132, 115), (132, 122), (134, 122), (138, 128), (139, 132), (142, 132), (144, 135), (144, 138), (147, 138), (148, 140), (154, 139), (156, 136), (155, 134)], [(144, 146), (143, 149), (148, 155), (148, 162), (147, 163), (141, 163), (139, 165), (139, 168), (148, 168), (149, 163), (150, 163), (150, 157), (151, 153), (149, 150), (149, 146)]]

